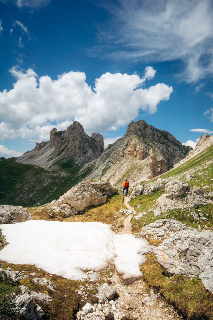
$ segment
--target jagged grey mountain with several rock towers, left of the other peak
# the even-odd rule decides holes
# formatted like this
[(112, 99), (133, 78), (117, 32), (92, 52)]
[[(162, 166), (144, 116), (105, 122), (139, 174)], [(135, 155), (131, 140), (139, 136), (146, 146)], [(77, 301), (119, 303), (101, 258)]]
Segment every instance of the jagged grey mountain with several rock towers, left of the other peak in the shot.
[(36, 142), (36, 147), (27, 151), (16, 162), (34, 164), (45, 169), (80, 166), (99, 157), (104, 150), (103, 137), (93, 133), (89, 137), (82, 125), (74, 121), (65, 131), (53, 128), (50, 140)]

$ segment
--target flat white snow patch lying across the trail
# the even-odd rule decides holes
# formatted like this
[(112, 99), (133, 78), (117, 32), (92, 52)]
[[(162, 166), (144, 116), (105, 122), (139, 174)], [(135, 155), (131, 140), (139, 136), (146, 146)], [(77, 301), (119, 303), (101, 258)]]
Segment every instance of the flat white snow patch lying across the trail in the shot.
[(9, 243), (0, 251), (1, 260), (34, 264), (73, 280), (87, 278), (80, 269), (101, 269), (108, 263), (114, 263), (124, 279), (141, 276), (139, 265), (146, 260), (137, 254), (148, 245), (146, 240), (115, 234), (100, 222), (29, 220), (0, 229)]

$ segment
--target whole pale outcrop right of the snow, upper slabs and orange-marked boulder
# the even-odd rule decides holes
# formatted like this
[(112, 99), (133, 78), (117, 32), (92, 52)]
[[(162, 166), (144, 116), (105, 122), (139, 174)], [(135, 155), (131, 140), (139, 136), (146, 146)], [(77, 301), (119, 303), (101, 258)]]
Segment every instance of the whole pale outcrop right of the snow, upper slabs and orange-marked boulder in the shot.
[(213, 233), (186, 227), (179, 221), (157, 220), (143, 227), (141, 236), (152, 234), (155, 239), (167, 237), (158, 246), (149, 246), (140, 254), (154, 252), (167, 276), (199, 275), (206, 290), (213, 292)]

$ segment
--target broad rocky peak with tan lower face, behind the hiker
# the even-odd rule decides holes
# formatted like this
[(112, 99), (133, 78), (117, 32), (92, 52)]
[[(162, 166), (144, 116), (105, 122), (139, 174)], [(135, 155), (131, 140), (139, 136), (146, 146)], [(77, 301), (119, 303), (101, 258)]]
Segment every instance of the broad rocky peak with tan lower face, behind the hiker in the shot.
[(168, 171), (191, 150), (171, 133), (156, 129), (144, 120), (132, 121), (124, 137), (109, 145), (103, 154), (82, 169), (93, 170), (88, 179), (101, 178), (120, 185), (132, 184)]

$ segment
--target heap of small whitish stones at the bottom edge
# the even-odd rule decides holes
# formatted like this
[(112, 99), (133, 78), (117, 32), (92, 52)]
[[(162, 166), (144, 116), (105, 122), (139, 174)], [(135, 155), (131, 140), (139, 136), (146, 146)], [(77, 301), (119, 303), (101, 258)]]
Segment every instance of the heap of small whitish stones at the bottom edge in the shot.
[(105, 319), (115, 319), (121, 320), (124, 314), (120, 312), (120, 305), (118, 301), (110, 300), (104, 304), (87, 304), (79, 311), (76, 315), (77, 320), (105, 320)]

